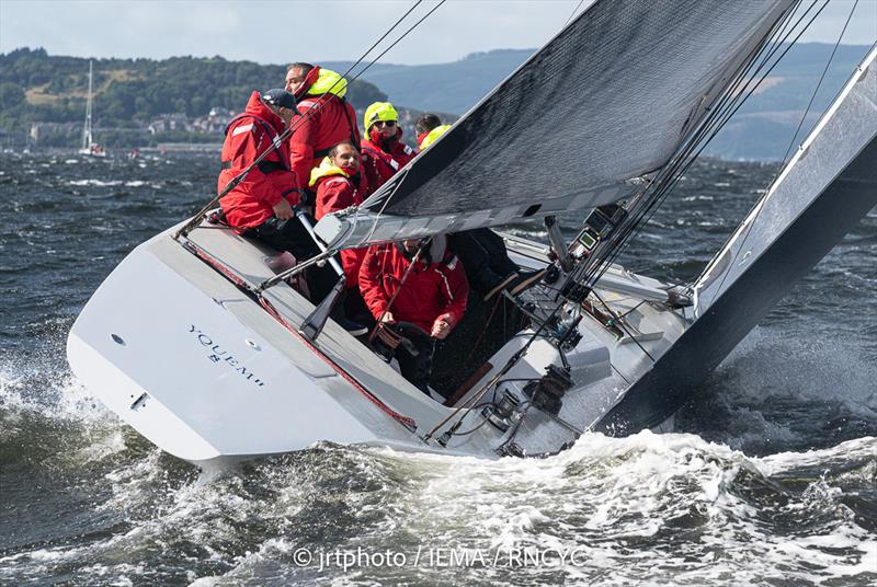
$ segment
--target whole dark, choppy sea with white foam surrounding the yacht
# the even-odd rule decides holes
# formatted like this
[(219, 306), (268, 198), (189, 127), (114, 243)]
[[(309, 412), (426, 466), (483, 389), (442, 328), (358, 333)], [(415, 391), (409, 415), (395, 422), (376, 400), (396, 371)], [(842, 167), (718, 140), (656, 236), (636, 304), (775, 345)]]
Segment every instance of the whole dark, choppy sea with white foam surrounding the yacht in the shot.
[[(696, 164), (620, 261), (695, 278), (776, 171)], [(213, 154), (0, 156), (1, 585), (877, 582), (877, 212), (674, 434), (492, 462), (323, 444), (206, 479), (94, 400), (65, 341), (101, 280), (206, 203), (217, 173)]]

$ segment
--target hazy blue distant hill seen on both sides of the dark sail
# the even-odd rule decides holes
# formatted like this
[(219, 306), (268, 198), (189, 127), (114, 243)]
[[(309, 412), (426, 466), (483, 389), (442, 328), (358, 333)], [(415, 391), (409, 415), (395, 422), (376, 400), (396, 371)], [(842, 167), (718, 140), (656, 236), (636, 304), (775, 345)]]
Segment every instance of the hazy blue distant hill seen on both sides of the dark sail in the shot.
[[(782, 159), (832, 48), (833, 45), (822, 43), (791, 47), (706, 152), (722, 159)], [(838, 47), (797, 142), (806, 136), (868, 48), (866, 45)], [(463, 114), (533, 53), (532, 49), (503, 49), (474, 54), (451, 64), (376, 65), (362, 79), (379, 87), (390, 100), (410, 107)], [(351, 62), (327, 65), (344, 71)]]

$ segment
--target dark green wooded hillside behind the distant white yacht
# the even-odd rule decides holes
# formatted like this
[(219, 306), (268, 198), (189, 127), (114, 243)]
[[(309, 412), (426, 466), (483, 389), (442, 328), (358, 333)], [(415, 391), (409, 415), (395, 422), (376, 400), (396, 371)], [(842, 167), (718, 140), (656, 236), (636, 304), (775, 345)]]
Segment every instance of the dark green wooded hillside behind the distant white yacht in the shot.
[[(98, 127), (139, 128), (152, 118), (182, 113), (206, 116), (212, 107), (241, 111), (252, 90), (283, 85), (285, 65), (263, 66), (221, 57), (94, 59)], [(343, 73), (343, 72), (340, 72)], [(0, 54), (0, 133), (24, 135), (32, 123), (83, 120), (89, 60), (49, 56), (45, 49)], [(356, 80), (348, 100), (357, 110), (387, 95)]]

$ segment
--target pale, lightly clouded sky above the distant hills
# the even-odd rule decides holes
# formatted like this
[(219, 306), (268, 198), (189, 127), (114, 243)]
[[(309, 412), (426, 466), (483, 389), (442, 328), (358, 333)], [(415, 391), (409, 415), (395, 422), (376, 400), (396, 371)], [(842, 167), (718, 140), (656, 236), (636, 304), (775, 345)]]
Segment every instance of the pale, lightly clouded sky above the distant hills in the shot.
[[(536, 48), (573, 11), (590, 3), (447, 0), (380, 61), (436, 64), (475, 51)], [(219, 55), (259, 64), (349, 60), (360, 57), (413, 4), (413, 0), (0, 0), (0, 53), (43, 47), (49, 55), (96, 58)], [(436, 0), (426, 0), (412, 16), (435, 5)], [(877, 0), (858, 0), (857, 5), (854, 0), (832, 0), (802, 41), (836, 42), (854, 5), (843, 43), (873, 44)], [(397, 31), (407, 30), (408, 22)]]

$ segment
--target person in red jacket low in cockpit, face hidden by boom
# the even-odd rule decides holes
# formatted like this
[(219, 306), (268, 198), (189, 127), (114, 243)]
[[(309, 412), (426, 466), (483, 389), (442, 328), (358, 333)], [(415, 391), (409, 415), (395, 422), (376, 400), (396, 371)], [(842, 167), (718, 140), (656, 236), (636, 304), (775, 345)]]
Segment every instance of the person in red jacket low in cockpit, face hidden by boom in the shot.
[[(371, 246), (360, 267), (360, 290), (402, 377), (429, 393), (435, 341), (463, 319), (469, 295), (466, 273), (445, 235)], [(400, 323), (408, 324), (406, 330), (394, 327)], [(407, 344), (398, 344), (399, 334)], [(388, 343), (394, 337), (396, 346)]]

